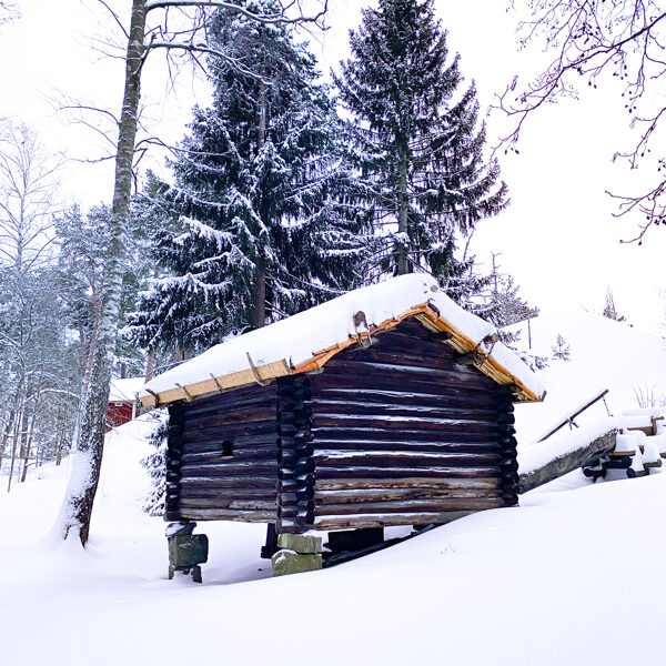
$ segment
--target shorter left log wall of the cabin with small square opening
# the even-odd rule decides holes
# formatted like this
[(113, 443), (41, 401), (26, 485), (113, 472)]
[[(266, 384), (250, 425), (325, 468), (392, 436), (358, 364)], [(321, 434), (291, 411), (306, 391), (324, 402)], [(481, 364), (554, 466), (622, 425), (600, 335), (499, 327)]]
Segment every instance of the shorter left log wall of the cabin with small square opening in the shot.
[(276, 404), (271, 384), (170, 406), (167, 519), (275, 523)]

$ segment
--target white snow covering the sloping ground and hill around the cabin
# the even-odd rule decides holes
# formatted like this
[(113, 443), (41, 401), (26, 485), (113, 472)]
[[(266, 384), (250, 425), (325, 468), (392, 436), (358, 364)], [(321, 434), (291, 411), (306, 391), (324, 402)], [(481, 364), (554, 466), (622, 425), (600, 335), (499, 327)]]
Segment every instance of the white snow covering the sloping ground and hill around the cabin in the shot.
[[(568, 395), (576, 403), (601, 381), (613, 383), (612, 393), (625, 391), (616, 398), (623, 408), (635, 407), (625, 403), (632, 385), (647, 385), (650, 373), (666, 367), (658, 339), (650, 339), (650, 363), (632, 365), (642, 355), (636, 345), (647, 344), (636, 343), (643, 334), (602, 321), (604, 340), (587, 347), (599, 332), (589, 320), (574, 340), (574, 323), (559, 331), (572, 361), (543, 373), (553, 400)], [(607, 347), (616, 354), (613, 373), (624, 367), (619, 374), (599, 369)], [(534, 410), (519, 417), (526, 438), (549, 425), (546, 407), (547, 401), (521, 407)], [(363, 559), (283, 578), (271, 578), (270, 562), (259, 557), (262, 525), (200, 524), (211, 553), (198, 585), (168, 579), (164, 523), (141, 509), (149, 482), (139, 461), (150, 452), (151, 427), (134, 422), (109, 435), (85, 552), (49, 536), (67, 462), (0, 495), (1, 664), (666, 662), (662, 472), (595, 485), (575, 472), (524, 495), (519, 507), (483, 512)]]

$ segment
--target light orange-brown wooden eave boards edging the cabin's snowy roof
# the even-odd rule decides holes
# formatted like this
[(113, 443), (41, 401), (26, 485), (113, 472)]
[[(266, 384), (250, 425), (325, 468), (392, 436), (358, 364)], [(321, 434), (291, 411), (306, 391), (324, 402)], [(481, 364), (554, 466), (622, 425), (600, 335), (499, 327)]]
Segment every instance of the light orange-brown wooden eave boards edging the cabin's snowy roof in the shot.
[[(147, 395), (141, 398), (143, 406), (154, 407), (159, 405), (165, 405), (178, 400), (192, 400), (202, 395), (209, 395), (215, 392), (231, 391), (233, 389), (240, 389), (254, 384), (259, 380), (261, 382), (271, 382), (278, 377), (282, 377), (290, 374), (301, 374), (312, 372), (323, 367), (333, 356), (346, 350), (347, 347), (366, 341), (369, 337), (383, 331), (390, 331), (394, 326), (397, 326), (402, 321), (415, 316), (418, 322), (426, 329), (433, 332), (446, 332), (451, 334), (451, 339), (446, 340), (444, 344), (451, 345), (455, 351), (461, 354), (467, 354), (470, 352), (478, 351), (478, 347), (474, 341), (464, 335), (461, 331), (451, 325), (445, 319), (441, 317), (437, 312), (428, 303), (423, 303), (411, 307), (397, 317), (393, 317), (382, 322), (380, 325), (371, 326), (369, 333), (361, 333), (357, 336), (351, 336), (347, 340), (321, 350), (313, 354), (307, 361), (300, 363), (299, 365), (291, 367), (289, 363), (283, 359), (273, 363), (266, 363), (264, 365), (258, 365), (256, 376), (255, 372), (249, 367), (240, 372), (234, 372), (228, 375), (211, 377), (202, 382), (194, 384), (188, 384), (182, 387), (170, 389), (162, 391), (155, 397), (154, 395)], [(518, 402), (537, 402), (539, 397), (529, 391), (517, 377), (512, 375), (505, 367), (500, 365), (492, 356), (480, 353), (480, 362), (475, 363), (474, 366), (482, 373), (491, 377), (497, 384), (515, 386), (517, 390), (516, 401)]]

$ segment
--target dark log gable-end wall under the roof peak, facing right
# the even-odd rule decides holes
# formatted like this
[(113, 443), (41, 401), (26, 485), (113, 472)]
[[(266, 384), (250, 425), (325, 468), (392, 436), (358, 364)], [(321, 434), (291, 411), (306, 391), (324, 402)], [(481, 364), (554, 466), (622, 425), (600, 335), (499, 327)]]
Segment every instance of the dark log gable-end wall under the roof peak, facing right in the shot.
[(446, 523), (517, 502), (512, 396), (415, 320), (280, 380), (279, 531)]

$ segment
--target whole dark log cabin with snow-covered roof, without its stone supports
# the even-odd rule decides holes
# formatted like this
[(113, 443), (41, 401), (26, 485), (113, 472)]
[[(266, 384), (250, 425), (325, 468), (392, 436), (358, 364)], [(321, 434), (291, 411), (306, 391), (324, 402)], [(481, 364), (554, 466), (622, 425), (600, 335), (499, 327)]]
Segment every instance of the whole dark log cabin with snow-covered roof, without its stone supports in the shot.
[(215, 345), (141, 398), (169, 407), (167, 521), (299, 534), (516, 504), (513, 404), (543, 395), (494, 326), (412, 274)]

